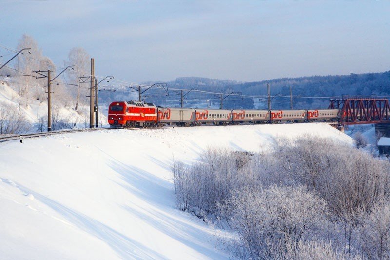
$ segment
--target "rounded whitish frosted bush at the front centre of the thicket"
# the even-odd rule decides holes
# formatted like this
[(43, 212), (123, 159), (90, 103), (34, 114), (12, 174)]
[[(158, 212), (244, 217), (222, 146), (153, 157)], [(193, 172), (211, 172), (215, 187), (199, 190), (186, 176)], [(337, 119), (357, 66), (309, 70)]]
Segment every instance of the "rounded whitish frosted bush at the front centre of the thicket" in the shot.
[(326, 222), (326, 202), (303, 187), (244, 189), (226, 206), (228, 222), (250, 257), (269, 259), (287, 244), (310, 240)]

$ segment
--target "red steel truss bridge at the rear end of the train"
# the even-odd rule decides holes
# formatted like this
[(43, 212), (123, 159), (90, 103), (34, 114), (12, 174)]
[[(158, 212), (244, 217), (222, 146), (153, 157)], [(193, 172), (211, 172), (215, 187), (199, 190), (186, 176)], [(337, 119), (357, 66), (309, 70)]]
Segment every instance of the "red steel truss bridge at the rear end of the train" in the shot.
[(339, 122), (349, 124), (390, 123), (388, 99), (345, 98), (330, 100), (330, 109), (340, 109)]

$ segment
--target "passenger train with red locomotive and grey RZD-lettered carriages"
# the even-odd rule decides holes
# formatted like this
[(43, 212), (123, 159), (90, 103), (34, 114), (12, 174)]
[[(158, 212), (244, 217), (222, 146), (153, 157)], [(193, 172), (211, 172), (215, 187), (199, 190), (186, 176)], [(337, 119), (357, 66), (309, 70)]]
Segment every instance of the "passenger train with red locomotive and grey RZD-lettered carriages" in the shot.
[(250, 110), (204, 109), (156, 106), (142, 101), (116, 101), (108, 107), (112, 128), (146, 128), (164, 125), (199, 126), (300, 122), (337, 122), (339, 109)]

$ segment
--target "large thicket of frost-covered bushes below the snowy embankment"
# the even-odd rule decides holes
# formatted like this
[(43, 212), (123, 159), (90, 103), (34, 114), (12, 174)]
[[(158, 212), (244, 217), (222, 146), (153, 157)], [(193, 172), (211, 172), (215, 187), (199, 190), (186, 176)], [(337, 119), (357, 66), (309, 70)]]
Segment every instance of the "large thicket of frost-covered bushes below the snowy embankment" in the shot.
[(331, 140), (173, 163), (177, 207), (235, 234), (235, 257), (389, 259), (390, 164)]

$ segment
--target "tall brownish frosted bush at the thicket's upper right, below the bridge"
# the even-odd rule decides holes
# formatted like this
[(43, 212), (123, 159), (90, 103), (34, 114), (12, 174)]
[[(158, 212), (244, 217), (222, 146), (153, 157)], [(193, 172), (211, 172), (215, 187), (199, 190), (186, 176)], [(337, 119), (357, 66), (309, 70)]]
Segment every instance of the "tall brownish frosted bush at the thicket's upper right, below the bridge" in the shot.
[[(390, 164), (331, 140), (279, 142), (275, 150), (284, 179), (324, 198), (338, 217), (351, 219), (390, 194)], [(275, 154), (276, 155), (276, 154)]]

